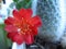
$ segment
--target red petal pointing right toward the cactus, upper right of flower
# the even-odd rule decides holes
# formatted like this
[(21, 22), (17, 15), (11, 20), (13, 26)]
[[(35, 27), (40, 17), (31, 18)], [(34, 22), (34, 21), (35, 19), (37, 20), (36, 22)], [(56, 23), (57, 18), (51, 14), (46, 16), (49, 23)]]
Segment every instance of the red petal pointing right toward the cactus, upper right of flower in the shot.
[(29, 22), (32, 26), (35, 26), (35, 27), (38, 27), (42, 25), (41, 19), (38, 16), (32, 17)]

